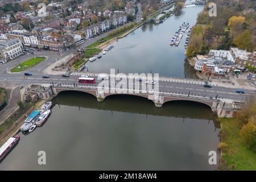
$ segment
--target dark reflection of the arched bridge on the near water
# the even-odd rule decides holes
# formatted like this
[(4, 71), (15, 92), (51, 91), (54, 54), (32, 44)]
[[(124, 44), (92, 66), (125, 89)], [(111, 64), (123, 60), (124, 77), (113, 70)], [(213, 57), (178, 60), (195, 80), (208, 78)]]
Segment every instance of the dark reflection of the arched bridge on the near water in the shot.
[[(69, 97), (69, 96), (72, 97)], [(86, 107), (90, 109), (109, 110), (124, 113), (136, 113), (147, 115), (159, 115), (164, 117), (174, 117), (185, 119), (204, 119), (213, 121), (215, 128), (220, 128), (220, 123), (216, 122), (216, 115), (210, 107), (200, 102), (193, 101), (169, 101), (163, 107), (155, 107), (154, 103), (147, 98), (132, 95), (112, 95), (105, 98), (104, 102), (97, 102), (97, 98), (92, 94), (79, 91), (62, 91), (53, 98), (53, 104)]]

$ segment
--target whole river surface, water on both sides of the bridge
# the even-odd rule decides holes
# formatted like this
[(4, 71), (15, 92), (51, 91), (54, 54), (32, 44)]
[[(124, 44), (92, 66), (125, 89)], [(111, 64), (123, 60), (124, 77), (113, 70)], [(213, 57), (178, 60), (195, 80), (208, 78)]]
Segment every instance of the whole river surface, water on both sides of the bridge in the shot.
[[(192, 77), (183, 61), (183, 42), (179, 47), (170, 47), (169, 42), (177, 27), (184, 21), (195, 22), (202, 9), (190, 7), (163, 24), (138, 28), (114, 43), (114, 49), (89, 69), (108, 72), (109, 68), (118, 68), (126, 73), (152, 69), (166, 76)], [(124, 95), (97, 102), (94, 96), (80, 92), (61, 92), (52, 101), (47, 122), (30, 134), (19, 133), (18, 145), (2, 160), (0, 170), (217, 167), (209, 165), (208, 153), (217, 151), (220, 126), (206, 105), (172, 101), (157, 108), (146, 98)], [(46, 152), (46, 165), (38, 164), (39, 151)]]

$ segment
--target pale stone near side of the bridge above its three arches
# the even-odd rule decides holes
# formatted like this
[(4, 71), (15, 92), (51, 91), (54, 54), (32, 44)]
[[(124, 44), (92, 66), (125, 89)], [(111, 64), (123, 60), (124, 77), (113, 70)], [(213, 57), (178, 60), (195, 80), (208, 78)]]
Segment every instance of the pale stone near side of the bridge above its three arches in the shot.
[[(106, 89), (106, 88), (105, 88)], [(29, 90), (29, 89), (28, 89)], [(62, 91), (67, 90), (74, 90), (79, 92), (85, 92), (92, 94), (97, 98), (97, 101), (102, 102), (104, 101), (105, 97), (115, 95), (115, 94), (128, 94), (134, 96), (140, 96), (147, 98), (155, 103), (156, 107), (162, 107), (162, 105), (169, 101), (193, 101), (193, 102), (200, 102), (202, 104), (208, 105), (212, 111), (216, 111), (216, 113), (220, 117), (233, 117), (236, 115), (236, 111), (241, 109), (238, 105), (242, 104), (240, 101), (233, 101), (233, 100), (225, 100), (223, 101), (220, 98), (212, 98), (212, 97), (205, 97), (200, 95), (193, 95), (189, 93), (171, 93), (171, 92), (154, 92), (151, 93), (148, 90), (128, 90), (128, 89), (115, 89), (115, 92), (110, 92), (109, 90), (104, 90), (104, 88), (96, 85), (82, 85), (82, 84), (63, 84), (63, 85), (49, 85), (48, 88), (44, 87), (44, 92), (48, 92), (56, 96)], [(133, 91), (133, 92), (131, 92)], [(38, 96), (40, 96), (39, 93)], [(220, 105), (221, 103), (221, 105)], [(229, 103), (229, 104), (228, 104)], [(231, 103), (231, 104), (230, 104)]]

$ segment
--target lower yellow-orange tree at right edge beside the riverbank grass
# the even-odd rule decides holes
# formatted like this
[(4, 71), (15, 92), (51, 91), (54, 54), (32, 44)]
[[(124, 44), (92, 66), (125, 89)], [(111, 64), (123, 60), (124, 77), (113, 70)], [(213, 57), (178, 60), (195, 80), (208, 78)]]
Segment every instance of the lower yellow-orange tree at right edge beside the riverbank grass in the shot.
[(250, 118), (250, 121), (242, 127), (240, 135), (246, 146), (256, 151), (256, 125), (254, 118)]

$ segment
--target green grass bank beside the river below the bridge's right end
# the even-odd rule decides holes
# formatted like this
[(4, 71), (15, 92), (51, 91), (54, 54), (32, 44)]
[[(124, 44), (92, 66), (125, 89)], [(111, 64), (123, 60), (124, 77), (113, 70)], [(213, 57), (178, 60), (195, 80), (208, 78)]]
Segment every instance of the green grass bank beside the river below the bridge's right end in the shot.
[(222, 142), (228, 144), (228, 151), (222, 154), (229, 168), (234, 170), (256, 170), (256, 152), (247, 148), (240, 137), (236, 118), (220, 118)]

